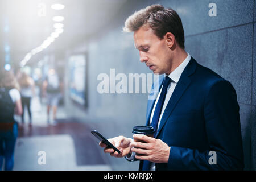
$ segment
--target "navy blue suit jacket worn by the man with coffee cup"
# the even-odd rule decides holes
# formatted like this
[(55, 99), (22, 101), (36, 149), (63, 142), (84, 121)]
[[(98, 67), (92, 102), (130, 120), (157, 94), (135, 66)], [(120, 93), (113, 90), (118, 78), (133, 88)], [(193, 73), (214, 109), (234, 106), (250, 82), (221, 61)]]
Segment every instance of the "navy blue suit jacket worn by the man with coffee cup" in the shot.
[[(152, 90), (160, 88), (152, 85)], [(149, 125), (155, 99), (148, 100)], [(171, 147), (168, 163), (156, 170), (242, 170), (239, 105), (229, 81), (191, 58), (164, 110), (156, 138)], [(209, 151), (217, 164), (209, 164)], [(143, 161), (140, 162), (140, 169)]]

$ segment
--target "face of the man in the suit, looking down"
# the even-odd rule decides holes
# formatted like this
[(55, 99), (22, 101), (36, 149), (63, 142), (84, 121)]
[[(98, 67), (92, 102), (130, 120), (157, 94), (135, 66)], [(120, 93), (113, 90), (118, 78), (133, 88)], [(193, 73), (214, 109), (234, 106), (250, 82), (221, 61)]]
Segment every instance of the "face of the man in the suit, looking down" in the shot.
[(165, 38), (160, 40), (151, 28), (141, 27), (134, 32), (134, 43), (140, 61), (154, 73), (170, 72), (172, 54)]

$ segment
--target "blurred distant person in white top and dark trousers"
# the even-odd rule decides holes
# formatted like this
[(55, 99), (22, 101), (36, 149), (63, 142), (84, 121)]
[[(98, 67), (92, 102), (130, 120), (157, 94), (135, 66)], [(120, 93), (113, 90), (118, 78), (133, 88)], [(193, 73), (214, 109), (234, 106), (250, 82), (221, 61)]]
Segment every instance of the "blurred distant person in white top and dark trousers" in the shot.
[(27, 73), (23, 72), (21, 77), (19, 78), (19, 85), (20, 85), (20, 94), (21, 94), (21, 100), (22, 100), (22, 123), (24, 123), (24, 110), (25, 106), (27, 107), (28, 115), (30, 118), (30, 126), (32, 123), (31, 118), (31, 98), (32, 96), (35, 96), (35, 83), (34, 80), (27, 75)]

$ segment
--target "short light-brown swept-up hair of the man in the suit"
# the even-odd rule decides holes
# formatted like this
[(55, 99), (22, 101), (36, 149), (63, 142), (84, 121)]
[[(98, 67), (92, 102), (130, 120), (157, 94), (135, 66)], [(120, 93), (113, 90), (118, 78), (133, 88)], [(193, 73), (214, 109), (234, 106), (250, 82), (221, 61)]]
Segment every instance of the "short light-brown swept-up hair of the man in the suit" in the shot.
[(174, 34), (177, 43), (181, 48), (184, 47), (184, 30), (181, 19), (176, 11), (162, 5), (151, 5), (136, 11), (125, 21), (123, 31), (134, 32), (142, 26), (152, 28), (158, 38), (163, 39), (167, 32)]

